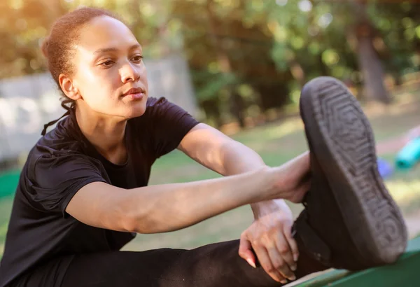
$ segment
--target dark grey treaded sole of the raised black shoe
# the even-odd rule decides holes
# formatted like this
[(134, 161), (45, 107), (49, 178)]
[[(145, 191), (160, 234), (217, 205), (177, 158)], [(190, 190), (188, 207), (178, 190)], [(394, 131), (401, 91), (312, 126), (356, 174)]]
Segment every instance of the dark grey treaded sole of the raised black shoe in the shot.
[(379, 175), (370, 123), (342, 83), (329, 77), (315, 81), (311, 104), (323, 143), (353, 190), (340, 193), (332, 181), (347, 228), (367, 260), (394, 262), (405, 250), (407, 231)]

